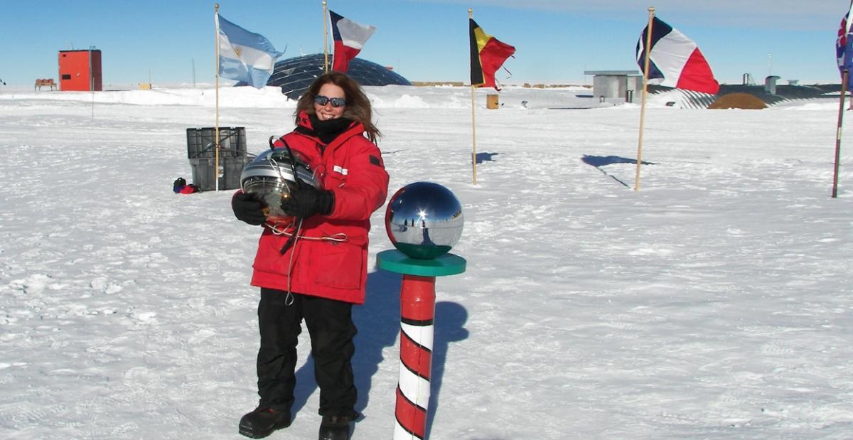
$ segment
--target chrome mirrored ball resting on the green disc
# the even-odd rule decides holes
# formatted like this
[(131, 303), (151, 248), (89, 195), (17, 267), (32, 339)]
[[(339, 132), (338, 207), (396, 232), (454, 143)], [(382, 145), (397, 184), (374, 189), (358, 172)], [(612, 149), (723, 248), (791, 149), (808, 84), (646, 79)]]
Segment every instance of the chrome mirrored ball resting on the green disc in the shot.
[(414, 182), (388, 201), (385, 229), (394, 247), (411, 258), (432, 259), (462, 236), (462, 205), (438, 183)]

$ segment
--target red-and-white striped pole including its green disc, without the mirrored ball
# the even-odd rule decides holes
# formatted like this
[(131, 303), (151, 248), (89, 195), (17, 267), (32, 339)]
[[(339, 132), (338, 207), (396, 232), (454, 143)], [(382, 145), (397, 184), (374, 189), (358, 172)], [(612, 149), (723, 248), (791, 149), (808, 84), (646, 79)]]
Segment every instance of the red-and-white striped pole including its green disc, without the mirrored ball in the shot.
[(424, 440), (432, 376), (435, 277), (465, 271), (466, 261), (450, 253), (433, 259), (409, 258), (396, 250), (376, 256), (380, 269), (403, 274), (400, 287), (400, 376), (394, 440)]

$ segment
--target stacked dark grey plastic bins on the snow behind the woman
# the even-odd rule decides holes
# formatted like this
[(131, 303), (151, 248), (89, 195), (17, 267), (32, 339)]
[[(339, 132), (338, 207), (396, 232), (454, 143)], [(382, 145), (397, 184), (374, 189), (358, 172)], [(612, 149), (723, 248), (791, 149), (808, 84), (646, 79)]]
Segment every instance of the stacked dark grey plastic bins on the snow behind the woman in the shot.
[[(187, 156), (193, 183), (202, 191), (217, 188), (216, 148), (212, 127), (187, 129)], [(250, 160), (244, 127), (219, 127), (219, 189), (240, 188), (240, 175)]]

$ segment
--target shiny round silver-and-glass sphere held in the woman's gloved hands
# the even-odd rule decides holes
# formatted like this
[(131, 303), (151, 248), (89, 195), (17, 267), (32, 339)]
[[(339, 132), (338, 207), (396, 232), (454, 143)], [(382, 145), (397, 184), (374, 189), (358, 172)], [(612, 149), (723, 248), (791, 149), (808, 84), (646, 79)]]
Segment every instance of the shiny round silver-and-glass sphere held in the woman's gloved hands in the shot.
[(270, 220), (284, 221), (289, 216), (281, 211), (281, 199), (287, 199), (297, 187), (296, 179), (318, 188), (314, 172), (299, 153), (290, 148), (270, 148), (243, 168), (240, 187), (266, 204)]

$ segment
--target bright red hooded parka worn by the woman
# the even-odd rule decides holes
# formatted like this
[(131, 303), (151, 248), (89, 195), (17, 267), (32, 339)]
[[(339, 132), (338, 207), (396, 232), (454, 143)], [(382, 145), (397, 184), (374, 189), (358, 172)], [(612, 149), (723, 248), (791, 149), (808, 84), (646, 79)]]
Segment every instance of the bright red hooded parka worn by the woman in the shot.
[(313, 129), (306, 113), (299, 114), (299, 126), (274, 145), (287, 142), (303, 156), (321, 188), (334, 193), (334, 206), (328, 215), (306, 218), (300, 238), (283, 254), (287, 235), (265, 227), (252, 265), (252, 286), (286, 291), (289, 276), (291, 292), (363, 304), (370, 215), (385, 204), (388, 192), (380, 150), (363, 136), (360, 123), (326, 146), (307, 134)]

